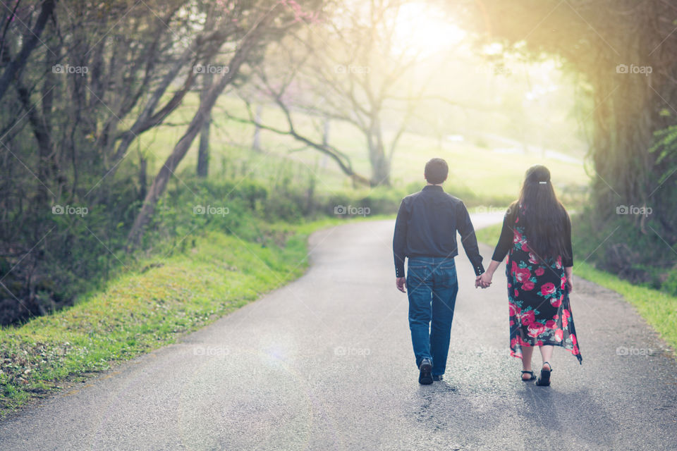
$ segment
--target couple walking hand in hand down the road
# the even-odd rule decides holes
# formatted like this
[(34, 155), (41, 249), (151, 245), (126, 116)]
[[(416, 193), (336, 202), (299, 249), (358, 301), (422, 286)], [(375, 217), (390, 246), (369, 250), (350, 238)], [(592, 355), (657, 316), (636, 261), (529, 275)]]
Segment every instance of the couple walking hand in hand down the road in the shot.
[[(396, 286), (409, 297), (409, 328), (418, 381), (441, 381), (446, 368), (458, 280), (456, 230), (475, 270), (475, 288), (487, 288), (508, 256), (510, 354), (522, 359), (522, 380), (537, 377), (531, 361), (538, 346), (542, 366), (537, 385), (550, 385), (549, 361), (555, 346), (581, 362), (569, 307), (573, 289), (571, 222), (559, 202), (545, 166), (527, 170), (518, 200), (503, 220), (501, 237), (487, 271), (477, 248), (475, 229), (461, 199), (446, 194), (446, 161), (425, 165), (427, 186), (402, 200), (395, 223), (393, 252)], [(404, 263), (408, 259), (405, 278)]]

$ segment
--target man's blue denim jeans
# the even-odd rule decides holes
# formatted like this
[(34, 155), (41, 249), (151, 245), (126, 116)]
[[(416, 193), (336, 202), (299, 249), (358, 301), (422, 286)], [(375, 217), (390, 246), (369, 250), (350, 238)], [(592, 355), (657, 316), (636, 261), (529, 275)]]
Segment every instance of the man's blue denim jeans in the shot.
[(407, 268), (409, 328), (416, 356), (432, 362), (434, 376), (444, 374), (449, 354), (453, 307), (458, 293), (453, 258), (415, 257)]

